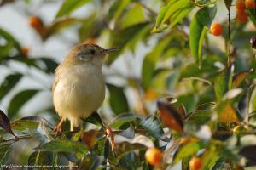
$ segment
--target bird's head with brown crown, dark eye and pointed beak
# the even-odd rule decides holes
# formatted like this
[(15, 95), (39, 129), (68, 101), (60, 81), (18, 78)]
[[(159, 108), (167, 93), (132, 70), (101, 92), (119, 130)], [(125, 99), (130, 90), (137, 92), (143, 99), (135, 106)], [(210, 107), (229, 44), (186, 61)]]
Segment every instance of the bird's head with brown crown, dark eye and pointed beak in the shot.
[(72, 48), (67, 60), (74, 64), (102, 65), (104, 56), (115, 52), (116, 48), (104, 49), (93, 43), (82, 43)]

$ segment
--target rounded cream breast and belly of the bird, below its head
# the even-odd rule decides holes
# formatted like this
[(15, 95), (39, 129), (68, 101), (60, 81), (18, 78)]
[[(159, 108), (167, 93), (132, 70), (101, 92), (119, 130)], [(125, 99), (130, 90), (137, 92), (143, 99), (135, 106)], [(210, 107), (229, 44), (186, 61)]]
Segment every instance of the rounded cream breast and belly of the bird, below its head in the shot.
[(87, 117), (102, 105), (104, 97), (101, 76), (64, 77), (55, 87), (55, 110), (64, 118)]

